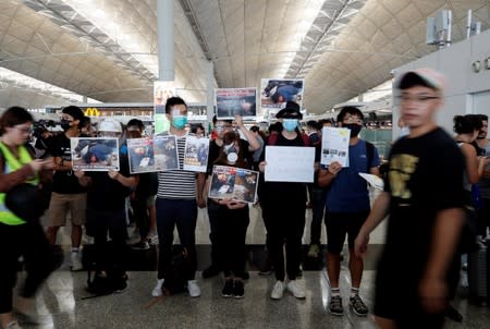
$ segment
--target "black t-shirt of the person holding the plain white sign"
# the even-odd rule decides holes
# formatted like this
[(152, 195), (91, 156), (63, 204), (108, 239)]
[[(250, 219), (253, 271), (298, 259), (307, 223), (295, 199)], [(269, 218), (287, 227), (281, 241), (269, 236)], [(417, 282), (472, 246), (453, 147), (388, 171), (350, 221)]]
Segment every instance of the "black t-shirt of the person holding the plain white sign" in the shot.
[[(266, 145), (269, 145), (269, 141)], [(305, 146), (303, 137), (297, 134), (296, 138), (287, 139), (281, 133), (278, 134), (273, 146)], [(266, 147), (261, 159), (266, 158)], [(264, 203), (273, 204), (306, 204), (306, 184), (293, 182), (264, 182), (264, 174), (260, 174), (259, 199)]]

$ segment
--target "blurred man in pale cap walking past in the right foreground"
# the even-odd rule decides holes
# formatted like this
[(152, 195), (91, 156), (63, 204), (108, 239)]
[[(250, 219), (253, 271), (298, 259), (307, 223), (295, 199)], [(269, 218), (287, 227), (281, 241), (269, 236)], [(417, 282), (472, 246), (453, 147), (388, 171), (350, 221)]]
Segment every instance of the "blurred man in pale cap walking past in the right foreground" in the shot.
[(411, 132), (391, 149), (384, 192), (357, 235), (355, 252), (366, 253), (370, 232), (390, 214), (376, 279), (376, 321), (380, 328), (442, 328), (448, 273), (465, 220), (464, 161), (436, 123), (443, 105), (442, 75), (411, 71), (395, 87)]

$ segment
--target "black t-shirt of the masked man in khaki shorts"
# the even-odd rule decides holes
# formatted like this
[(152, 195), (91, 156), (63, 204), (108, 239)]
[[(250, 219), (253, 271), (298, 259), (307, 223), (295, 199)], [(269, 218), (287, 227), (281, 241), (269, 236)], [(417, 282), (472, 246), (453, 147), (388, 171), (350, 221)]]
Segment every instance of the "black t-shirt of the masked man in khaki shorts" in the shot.
[[(60, 157), (64, 161), (72, 160), (70, 138), (64, 134), (52, 138), (50, 153), (53, 157)], [(84, 193), (86, 188), (78, 183), (78, 179), (72, 170), (57, 170), (52, 175), (52, 192), (61, 194)]]

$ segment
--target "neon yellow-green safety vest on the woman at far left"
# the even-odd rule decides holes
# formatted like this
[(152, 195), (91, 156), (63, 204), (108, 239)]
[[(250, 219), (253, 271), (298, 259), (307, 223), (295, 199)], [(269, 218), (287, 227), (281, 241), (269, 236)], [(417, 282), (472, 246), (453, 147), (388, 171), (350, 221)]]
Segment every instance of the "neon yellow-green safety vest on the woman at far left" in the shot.
[[(0, 150), (3, 155), (3, 173), (9, 173), (21, 169), (24, 164), (29, 163), (33, 158), (30, 157), (28, 150), (24, 146), (19, 146), (19, 159), (16, 159), (10, 149), (0, 142)], [(27, 181), (27, 183), (37, 185), (37, 175)], [(0, 193), (0, 222), (8, 226), (20, 226), (24, 224), (25, 220), (16, 217), (9, 208), (5, 207), (5, 193)]]

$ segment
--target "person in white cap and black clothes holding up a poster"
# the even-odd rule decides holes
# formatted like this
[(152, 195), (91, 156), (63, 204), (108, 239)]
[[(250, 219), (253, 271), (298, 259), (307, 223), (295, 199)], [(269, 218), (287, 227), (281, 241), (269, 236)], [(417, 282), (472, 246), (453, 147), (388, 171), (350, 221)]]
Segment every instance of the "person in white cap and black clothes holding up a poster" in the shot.
[[(121, 124), (106, 119), (99, 124), (99, 137), (121, 138)], [(126, 209), (125, 199), (138, 184), (138, 175), (130, 174), (127, 157), (120, 154), (119, 171), (76, 171), (82, 186), (87, 187), (87, 226), (96, 248), (96, 278), (87, 290), (98, 293), (99, 278), (108, 278), (111, 292), (127, 287), (125, 272)], [(107, 236), (111, 236), (112, 245)]]

